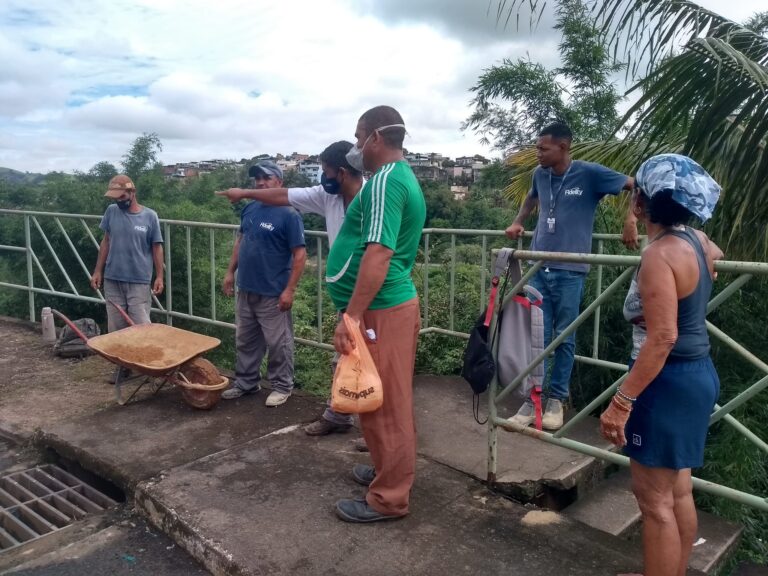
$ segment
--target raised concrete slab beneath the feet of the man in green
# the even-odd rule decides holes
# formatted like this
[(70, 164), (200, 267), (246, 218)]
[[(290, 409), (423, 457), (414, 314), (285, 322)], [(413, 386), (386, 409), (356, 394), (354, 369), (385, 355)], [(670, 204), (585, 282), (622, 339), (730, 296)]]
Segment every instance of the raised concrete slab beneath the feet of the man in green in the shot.
[(300, 430), (252, 440), (140, 484), (137, 505), (215, 574), (610, 575), (637, 550), (554, 513), (526, 509), (420, 458), (411, 514), (375, 525), (340, 522), (339, 498), (365, 455), (342, 436)]

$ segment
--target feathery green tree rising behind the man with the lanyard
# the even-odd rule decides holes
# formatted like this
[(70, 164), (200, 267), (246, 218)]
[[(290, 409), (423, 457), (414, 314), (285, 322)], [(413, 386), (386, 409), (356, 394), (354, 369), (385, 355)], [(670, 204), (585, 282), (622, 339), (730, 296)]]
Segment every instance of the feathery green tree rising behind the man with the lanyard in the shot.
[(605, 139), (616, 129), (621, 100), (611, 75), (615, 62), (604, 34), (582, 0), (557, 2), (562, 65), (505, 59), (485, 70), (472, 87), (474, 111), (463, 124), (499, 150), (531, 144), (552, 120), (570, 124), (581, 140)]

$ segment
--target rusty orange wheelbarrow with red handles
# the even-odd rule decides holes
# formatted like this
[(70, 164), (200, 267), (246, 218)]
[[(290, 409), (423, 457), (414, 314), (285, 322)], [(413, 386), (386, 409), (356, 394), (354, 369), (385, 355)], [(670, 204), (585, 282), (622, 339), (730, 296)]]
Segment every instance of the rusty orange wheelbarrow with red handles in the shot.
[[(118, 310), (128, 327), (92, 338), (86, 337), (58, 310), (52, 312), (96, 354), (139, 374), (126, 379), (122, 377), (122, 370), (118, 370), (115, 378), (118, 404), (122, 406), (129, 402), (150, 381), (153, 381), (154, 393), (166, 384), (180, 387), (184, 401), (194, 408), (207, 410), (219, 402), (229, 381), (201, 355), (216, 348), (221, 340), (165, 324), (136, 324), (120, 306), (108, 302)], [(142, 380), (141, 383), (123, 399), (122, 385), (137, 378)]]

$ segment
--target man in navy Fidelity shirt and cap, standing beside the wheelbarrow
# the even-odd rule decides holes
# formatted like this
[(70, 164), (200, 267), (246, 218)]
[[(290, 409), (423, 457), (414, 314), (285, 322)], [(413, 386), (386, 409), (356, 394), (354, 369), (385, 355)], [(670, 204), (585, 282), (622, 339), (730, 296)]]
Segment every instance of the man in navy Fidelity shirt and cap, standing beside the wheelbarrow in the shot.
[[(253, 166), (249, 176), (254, 188), (280, 188), (283, 183), (283, 171), (270, 161)], [(237, 271), (235, 383), (222, 398), (258, 392), (261, 361), (267, 354), (272, 392), (266, 405), (279, 406), (293, 391), (291, 307), (307, 261), (304, 224), (294, 209), (258, 201), (247, 204), (240, 219), (222, 286), (231, 296)]]

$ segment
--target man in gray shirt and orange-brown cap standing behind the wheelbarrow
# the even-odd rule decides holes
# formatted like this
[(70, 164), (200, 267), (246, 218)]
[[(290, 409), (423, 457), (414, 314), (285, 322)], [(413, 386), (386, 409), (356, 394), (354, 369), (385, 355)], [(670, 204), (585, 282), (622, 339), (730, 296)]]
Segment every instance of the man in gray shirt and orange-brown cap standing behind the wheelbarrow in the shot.
[[(103, 283), (106, 299), (125, 310), (136, 324), (149, 324), (151, 294), (160, 294), (164, 288), (160, 220), (154, 210), (139, 204), (136, 186), (128, 176), (120, 174), (112, 178), (104, 195), (115, 202), (107, 207), (99, 226), (104, 238), (91, 276), (91, 287), (98, 290)], [(107, 305), (107, 325), (110, 332), (127, 325), (110, 305)]]

